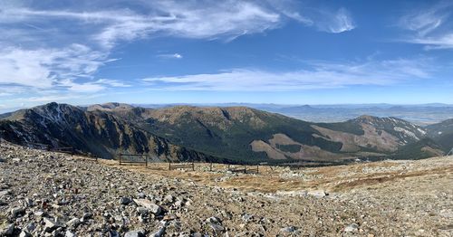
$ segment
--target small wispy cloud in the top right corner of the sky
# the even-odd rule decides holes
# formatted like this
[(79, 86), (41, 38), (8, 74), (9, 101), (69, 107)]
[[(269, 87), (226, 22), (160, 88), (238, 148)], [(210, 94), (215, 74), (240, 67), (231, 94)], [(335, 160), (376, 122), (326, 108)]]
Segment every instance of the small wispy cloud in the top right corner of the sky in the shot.
[(453, 48), (453, 4), (440, 2), (400, 18), (400, 27), (410, 31), (402, 40), (425, 45), (427, 50)]

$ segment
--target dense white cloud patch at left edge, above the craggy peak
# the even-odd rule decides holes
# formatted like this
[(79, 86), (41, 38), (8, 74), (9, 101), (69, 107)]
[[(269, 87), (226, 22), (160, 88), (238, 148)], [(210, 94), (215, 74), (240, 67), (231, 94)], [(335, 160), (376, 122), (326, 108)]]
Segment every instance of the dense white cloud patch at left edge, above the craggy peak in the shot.
[(81, 44), (63, 49), (8, 47), (0, 50), (0, 84), (49, 89), (63, 79), (89, 78), (110, 61), (105, 53)]

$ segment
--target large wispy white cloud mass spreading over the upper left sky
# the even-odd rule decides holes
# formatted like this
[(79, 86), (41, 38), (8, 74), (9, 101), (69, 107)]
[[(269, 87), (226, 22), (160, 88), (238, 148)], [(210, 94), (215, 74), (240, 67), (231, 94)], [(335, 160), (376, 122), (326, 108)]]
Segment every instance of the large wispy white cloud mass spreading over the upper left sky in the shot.
[[(115, 61), (111, 59), (115, 46), (143, 38), (170, 36), (228, 42), (245, 34), (265, 33), (292, 20), (328, 33), (355, 27), (351, 14), (343, 8), (328, 11), (305, 7), (297, 1), (276, 2), (0, 3), (0, 86), (20, 87), (20, 93), (62, 94), (129, 87), (127, 82), (95, 75), (103, 65)], [(158, 57), (182, 59), (183, 55)], [(7, 96), (16, 92), (0, 93)]]

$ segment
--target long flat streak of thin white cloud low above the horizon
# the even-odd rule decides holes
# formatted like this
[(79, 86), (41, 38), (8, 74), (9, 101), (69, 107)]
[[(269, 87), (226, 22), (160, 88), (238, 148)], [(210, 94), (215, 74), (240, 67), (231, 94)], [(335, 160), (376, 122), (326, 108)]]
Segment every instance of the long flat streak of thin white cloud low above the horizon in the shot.
[(351, 85), (391, 85), (430, 77), (425, 60), (363, 63), (311, 62), (311, 69), (270, 72), (235, 69), (213, 74), (143, 79), (156, 90), (275, 91), (341, 88)]

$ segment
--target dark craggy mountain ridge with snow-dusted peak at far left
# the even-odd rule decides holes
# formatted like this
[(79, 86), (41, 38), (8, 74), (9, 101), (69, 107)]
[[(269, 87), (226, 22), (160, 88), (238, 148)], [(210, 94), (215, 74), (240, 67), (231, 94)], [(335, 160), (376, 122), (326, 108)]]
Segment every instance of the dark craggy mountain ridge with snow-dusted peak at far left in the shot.
[[(102, 109), (124, 109), (104, 105)], [(131, 107), (130, 107), (131, 108)], [(107, 109), (107, 110), (108, 110)], [(212, 159), (193, 150), (178, 147), (101, 109), (85, 109), (50, 103), (19, 110), (0, 120), (1, 137), (29, 145), (74, 147), (81, 153), (113, 158), (120, 153), (149, 154), (156, 160)]]

